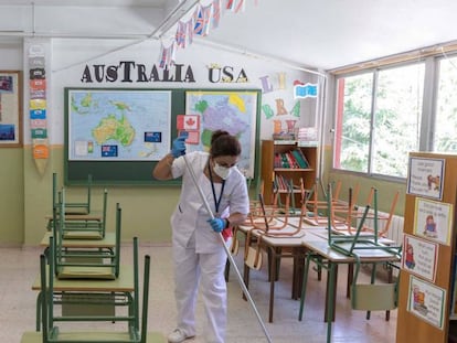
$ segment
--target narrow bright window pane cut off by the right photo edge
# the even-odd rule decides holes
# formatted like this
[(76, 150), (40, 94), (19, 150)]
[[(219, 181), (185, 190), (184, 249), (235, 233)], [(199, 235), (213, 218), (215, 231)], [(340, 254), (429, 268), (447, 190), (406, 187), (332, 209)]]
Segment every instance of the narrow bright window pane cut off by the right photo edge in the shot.
[(457, 153), (457, 57), (440, 60), (434, 151)]

